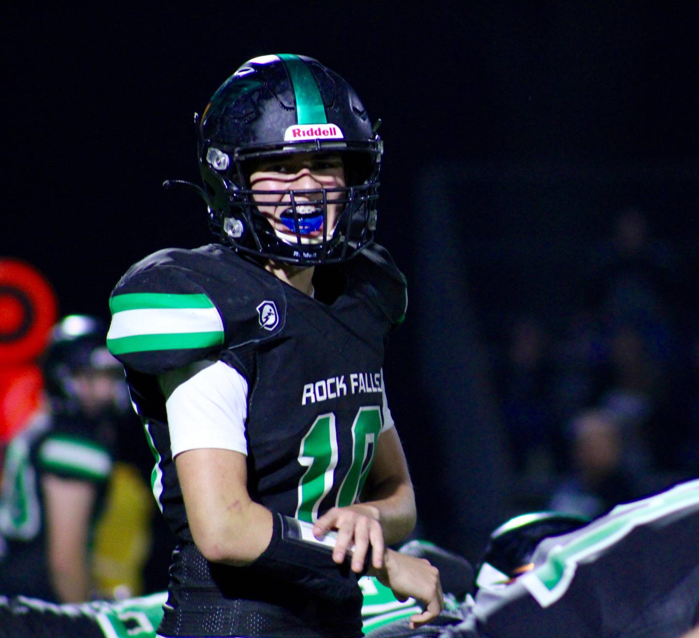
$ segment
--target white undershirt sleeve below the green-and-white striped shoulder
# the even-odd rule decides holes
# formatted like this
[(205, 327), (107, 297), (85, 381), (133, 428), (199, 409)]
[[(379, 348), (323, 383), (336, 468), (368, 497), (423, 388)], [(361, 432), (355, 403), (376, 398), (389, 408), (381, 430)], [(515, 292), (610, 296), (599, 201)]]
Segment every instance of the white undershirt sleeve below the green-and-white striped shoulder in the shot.
[(173, 458), (197, 448), (247, 455), (247, 381), (236, 369), (217, 361), (199, 370), (175, 387), (165, 406)]

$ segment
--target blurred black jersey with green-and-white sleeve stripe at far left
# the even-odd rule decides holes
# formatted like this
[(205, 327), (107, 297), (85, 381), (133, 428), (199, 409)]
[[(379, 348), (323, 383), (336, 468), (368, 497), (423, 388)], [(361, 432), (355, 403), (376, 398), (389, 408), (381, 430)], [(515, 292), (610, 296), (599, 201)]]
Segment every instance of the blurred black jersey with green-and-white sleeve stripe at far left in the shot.
[(103, 502), (113, 465), (119, 415), (97, 418), (59, 412), (36, 418), (10, 442), (0, 497), (0, 594), (55, 601), (47, 563), (42, 478), (93, 483), (93, 519)]

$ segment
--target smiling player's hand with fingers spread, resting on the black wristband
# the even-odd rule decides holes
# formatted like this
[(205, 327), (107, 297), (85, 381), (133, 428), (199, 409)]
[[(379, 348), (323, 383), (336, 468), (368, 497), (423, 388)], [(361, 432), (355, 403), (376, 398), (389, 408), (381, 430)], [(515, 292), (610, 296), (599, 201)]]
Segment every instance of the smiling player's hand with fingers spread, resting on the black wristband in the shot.
[(338, 532), (333, 549), (335, 562), (342, 563), (345, 555), (351, 552), (352, 571), (361, 574), (367, 552), (371, 551), (371, 566), (381, 569), (384, 532), (379, 522), (379, 511), (374, 506), (357, 503), (329, 509), (313, 526), (313, 534), (319, 539), (331, 530)]

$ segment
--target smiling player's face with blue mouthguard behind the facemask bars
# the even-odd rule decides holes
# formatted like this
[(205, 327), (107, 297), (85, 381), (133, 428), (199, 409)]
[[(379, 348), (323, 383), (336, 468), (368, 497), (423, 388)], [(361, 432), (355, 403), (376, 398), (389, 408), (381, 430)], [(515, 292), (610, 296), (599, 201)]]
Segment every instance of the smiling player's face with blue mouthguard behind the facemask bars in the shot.
[(301, 243), (312, 244), (322, 241), (324, 223), (327, 223), (326, 238), (333, 236), (343, 208), (343, 204), (333, 204), (343, 196), (342, 192), (331, 190), (327, 193), (326, 217), (322, 189), (344, 186), (343, 161), (339, 155), (328, 153), (298, 153), (263, 160), (250, 174), (250, 188), (258, 202), (257, 208), (280, 239), (289, 243), (297, 241), (290, 191), (294, 191)]

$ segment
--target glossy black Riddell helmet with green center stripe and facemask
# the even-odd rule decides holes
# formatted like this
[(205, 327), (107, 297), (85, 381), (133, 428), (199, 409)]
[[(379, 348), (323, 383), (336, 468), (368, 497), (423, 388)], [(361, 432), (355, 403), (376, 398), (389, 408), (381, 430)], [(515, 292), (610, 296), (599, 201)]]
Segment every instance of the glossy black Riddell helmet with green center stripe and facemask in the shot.
[[(245, 62), (215, 92), (197, 130), (199, 168), (219, 240), (243, 253), (305, 266), (345, 260), (373, 240), (382, 141), (352, 87), (317, 60), (279, 54)], [(282, 215), (289, 234), (278, 236), (257, 209), (250, 162), (323, 152), (342, 157), (347, 186), (290, 191)], [(334, 229), (326, 228), (330, 191), (342, 207)], [(297, 208), (295, 196), (318, 204)], [(319, 229), (321, 222), (322, 239), (302, 242), (303, 229)]]

